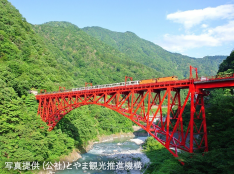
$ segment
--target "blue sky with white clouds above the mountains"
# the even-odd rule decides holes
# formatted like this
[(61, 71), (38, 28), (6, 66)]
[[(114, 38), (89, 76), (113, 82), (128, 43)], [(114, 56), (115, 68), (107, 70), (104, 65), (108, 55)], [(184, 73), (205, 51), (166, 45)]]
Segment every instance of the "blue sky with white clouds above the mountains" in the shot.
[(68, 21), (134, 32), (170, 52), (201, 58), (234, 48), (234, 0), (9, 0), (31, 24)]

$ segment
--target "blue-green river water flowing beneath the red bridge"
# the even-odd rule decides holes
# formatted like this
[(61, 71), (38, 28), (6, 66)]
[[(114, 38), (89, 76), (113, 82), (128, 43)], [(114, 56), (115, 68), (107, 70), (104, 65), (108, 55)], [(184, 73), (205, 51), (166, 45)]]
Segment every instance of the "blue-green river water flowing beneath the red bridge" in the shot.
[[(141, 173), (149, 159), (141, 152), (141, 144), (146, 137), (116, 138), (96, 143), (93, 148), (82, 154), (68, 168), (55, 174), (109, 174)], [(92, 170), (90, 170), (92, 168)]]

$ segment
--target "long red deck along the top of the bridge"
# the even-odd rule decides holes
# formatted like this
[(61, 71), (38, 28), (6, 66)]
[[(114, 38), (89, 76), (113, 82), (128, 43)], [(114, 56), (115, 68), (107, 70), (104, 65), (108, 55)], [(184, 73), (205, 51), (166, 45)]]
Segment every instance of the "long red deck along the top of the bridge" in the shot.
[(40, 93), (36, 97), (40, 98), (44, 95), (46, 96), (54, 96), (54, 95), (72, 95), (72, 94), (93, 94), (96, 93), (115, 93), (120, 91), (120, 93), (124, 93), (131, 90), (137, 91), (147, 91), (149, 88), (154, 90), (166, 90), (168, 87), (176, 88), (176, 89), (188, 89), (191, 84), (194, 84), (196, 89), (208, 89), (208, 88), (224, 88), (224, 87), (233, 87), (234, 86), (234, 76), (225, 77), (225, 78), (211, 78), (207, 80), (201, 79), (185, 79), (185, 80), (175, 80), (175, 81), (167, 81), (167, 82), (158, 82), (158, 83), (148, 83), (148, 84), (137, 84), (137, 85), (128, 85), (128, 86), (115, 86), (115, 87), (106, 87), (100, 89), (85, 89), (81, 91), (56, 91), (56, 92), (47, 92)]

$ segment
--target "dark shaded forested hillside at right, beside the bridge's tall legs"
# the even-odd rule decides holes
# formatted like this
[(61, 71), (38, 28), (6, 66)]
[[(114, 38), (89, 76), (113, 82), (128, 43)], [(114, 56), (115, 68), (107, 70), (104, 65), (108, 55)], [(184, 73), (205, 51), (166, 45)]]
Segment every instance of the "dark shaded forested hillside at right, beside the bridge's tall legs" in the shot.
[[(219, 67), (219, 75), (234, 73), (234, 51)], [(182, 166), (159, 142), (147, 140), (145, 152), (151, 160), (146, 173), (232, 174), (234, 169), (234, 97), (233, 89), (210, 89), (205, 97), (206, 124), (209, 151), (181, 153)], [(185, 110), (190, 110), (188, 104)], [(190, 112), (187, 112), (190, 114)], [(185, 114), (186, 115), (186, 114)], [(185, 117), (183, 115), (183, 119)]]

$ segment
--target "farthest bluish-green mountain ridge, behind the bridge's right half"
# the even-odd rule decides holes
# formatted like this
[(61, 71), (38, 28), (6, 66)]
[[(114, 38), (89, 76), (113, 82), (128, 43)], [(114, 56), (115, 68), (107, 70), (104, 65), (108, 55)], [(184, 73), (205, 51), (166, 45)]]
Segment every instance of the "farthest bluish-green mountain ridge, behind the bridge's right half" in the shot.
[(227, 57), (207, 56), (202, 59), (196, 59), (166, 51), (160, 46), (141, 39), (129, 31), (121, 33), (101, 27), (85, 27), (82, 30), (125, 53), (131, 60), (154, 68), (166, 76), (188, 77), (190, 65), (198, 68), (199, 75), (215, 75), (219, 64)]

